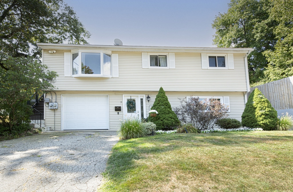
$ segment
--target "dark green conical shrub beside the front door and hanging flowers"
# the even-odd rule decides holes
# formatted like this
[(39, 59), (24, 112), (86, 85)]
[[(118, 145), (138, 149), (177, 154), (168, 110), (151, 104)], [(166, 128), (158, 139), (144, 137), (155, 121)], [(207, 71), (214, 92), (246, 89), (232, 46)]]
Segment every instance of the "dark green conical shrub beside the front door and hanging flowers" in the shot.
[(171, 104), (168, 101), (165, 91), (161, 87), (151, 110), (158, 111), (156, 117), (149, 116), (149, 121), (156, 124), (157, 130), (173, 130), (180, 121), (177, 115), (172, 111)]

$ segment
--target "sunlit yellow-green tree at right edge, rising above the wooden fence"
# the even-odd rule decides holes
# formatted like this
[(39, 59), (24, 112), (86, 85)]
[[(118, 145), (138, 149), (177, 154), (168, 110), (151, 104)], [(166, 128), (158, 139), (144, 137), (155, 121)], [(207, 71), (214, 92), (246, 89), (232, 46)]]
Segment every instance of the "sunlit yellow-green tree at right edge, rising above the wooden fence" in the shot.
[(269, 65), (259, 84), (293, 76), (293, 0), (272, 1), (270, 19), (276, 20), (274, 29), (278, 41), (274, 50), (265, 51)]

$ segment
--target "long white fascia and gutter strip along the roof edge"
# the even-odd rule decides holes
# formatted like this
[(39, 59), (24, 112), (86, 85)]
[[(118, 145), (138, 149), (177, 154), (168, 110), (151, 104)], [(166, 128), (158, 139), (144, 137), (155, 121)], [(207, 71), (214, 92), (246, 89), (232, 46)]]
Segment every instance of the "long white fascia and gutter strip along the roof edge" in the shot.
[(111, 51), (129, 52), (175, 52), (175, 53), (248, 53), (253, 48), (213, 48), (213, 47), (159, 47), (159, 46), (114, 46), (114, 45), (74, 45), (37, 43), (42, 49), (72, 50), (77, 48), (103, 48)]

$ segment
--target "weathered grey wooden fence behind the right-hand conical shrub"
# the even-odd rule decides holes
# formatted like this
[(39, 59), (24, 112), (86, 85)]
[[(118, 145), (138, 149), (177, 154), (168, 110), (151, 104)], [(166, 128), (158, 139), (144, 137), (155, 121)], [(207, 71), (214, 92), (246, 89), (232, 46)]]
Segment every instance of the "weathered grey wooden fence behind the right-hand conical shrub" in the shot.
[(293, 109), (293, 76), (251, 87), (247, 97), (255, 88), (265, 95), (275, 110)]

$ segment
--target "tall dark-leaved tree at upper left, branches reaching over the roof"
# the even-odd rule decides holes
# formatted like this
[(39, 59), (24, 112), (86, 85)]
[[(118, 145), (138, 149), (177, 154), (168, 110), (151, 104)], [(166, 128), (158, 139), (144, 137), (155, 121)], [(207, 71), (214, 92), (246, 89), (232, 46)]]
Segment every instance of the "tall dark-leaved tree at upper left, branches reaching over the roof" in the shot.
[(62, 0), (0, 1), (2, 68), (8, 56), (38, 58), (41, 50), (37, 42), (87, 44), (89, 37), (74, 10)]

